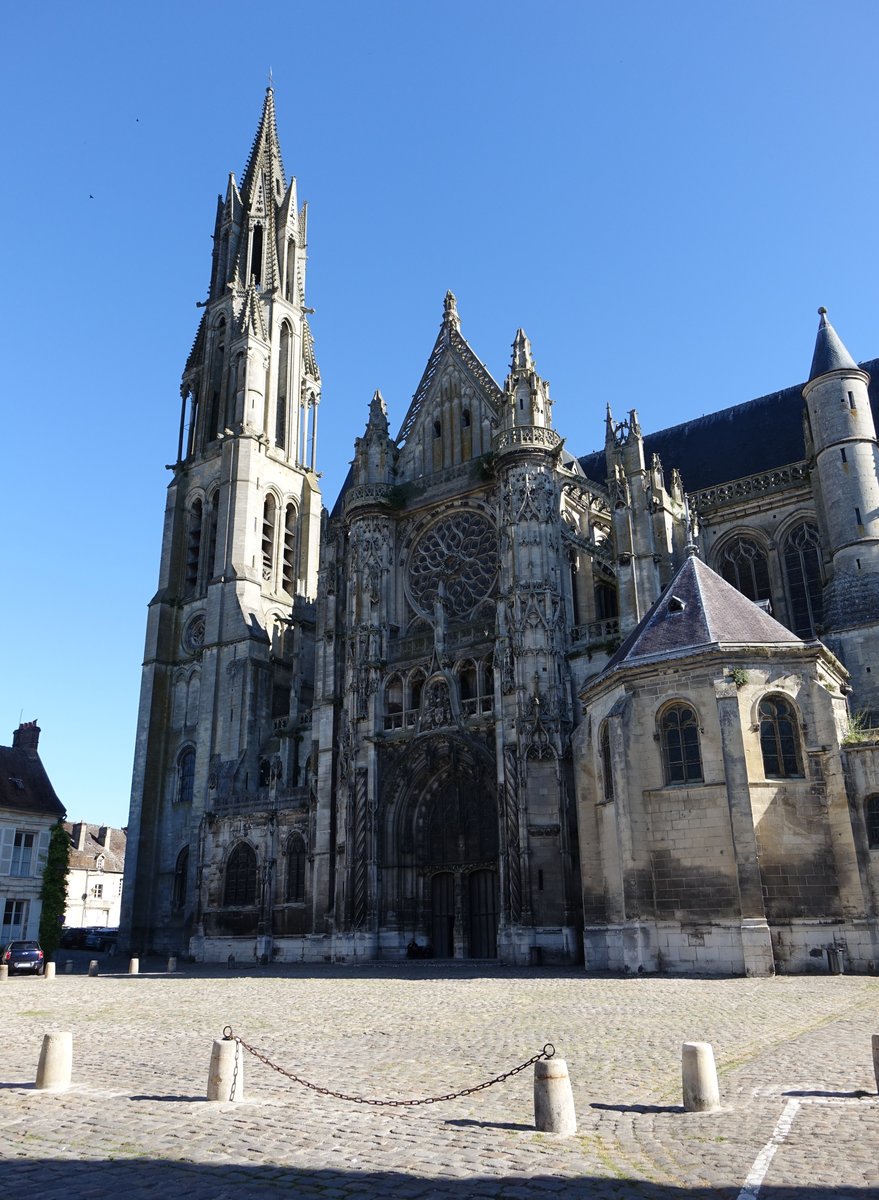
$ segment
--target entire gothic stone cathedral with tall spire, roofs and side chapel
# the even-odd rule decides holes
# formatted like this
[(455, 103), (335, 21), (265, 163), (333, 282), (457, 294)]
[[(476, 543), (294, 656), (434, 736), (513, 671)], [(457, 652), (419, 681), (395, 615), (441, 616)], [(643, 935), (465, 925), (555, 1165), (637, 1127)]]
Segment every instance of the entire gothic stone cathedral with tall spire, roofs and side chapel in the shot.
[(328, 514), (306, 212), (269, 89), (183, 376), (131, 949), (872, 968), (879, 362), (821, 313), (805, 386), (608, 410), (578, 460), (525, 332), (496, 383), (447, 293)]

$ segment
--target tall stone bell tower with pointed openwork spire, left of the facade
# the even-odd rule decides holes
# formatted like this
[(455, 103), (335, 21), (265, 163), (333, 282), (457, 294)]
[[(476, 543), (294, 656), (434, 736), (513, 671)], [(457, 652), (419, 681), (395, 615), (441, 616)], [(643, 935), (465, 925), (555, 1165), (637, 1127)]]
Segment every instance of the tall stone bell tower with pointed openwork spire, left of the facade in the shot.
[(269, 895), (275, 851), (261, 840), (275, 821), (259, 814), (304, 790), (321, 523), (305, 251), (269, 88), (241, 182), (231, 174), (217, 198), (183, 374), (133, 769), (122, 913), (133, 949), (186, 950), (217, 931), (219, 864), (235, 839)]

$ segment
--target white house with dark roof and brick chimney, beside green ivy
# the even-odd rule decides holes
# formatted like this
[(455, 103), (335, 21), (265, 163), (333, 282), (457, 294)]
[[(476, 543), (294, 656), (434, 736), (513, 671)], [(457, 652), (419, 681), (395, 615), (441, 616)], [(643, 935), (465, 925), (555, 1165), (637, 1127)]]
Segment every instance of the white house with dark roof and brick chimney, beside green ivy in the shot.
[(0, 746), (0, 946), (37, 938), (52, 827), (64, 805), (40, 761), (40, 727), (25, 721)]

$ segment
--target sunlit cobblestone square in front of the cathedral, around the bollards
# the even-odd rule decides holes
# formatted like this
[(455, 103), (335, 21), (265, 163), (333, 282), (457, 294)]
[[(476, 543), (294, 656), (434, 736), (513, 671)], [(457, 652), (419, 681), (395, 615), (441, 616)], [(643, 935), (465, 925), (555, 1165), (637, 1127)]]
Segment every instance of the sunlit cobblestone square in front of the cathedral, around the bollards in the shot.
[[(8, 1195), (879, 1196), (875, 978), (157, 967), (88, 978), (77, 962), (80, 973), (55, 980), (0, 984)], [(207, 1103), (211, 1042), (226, 1025), (306, 1079), (379, 1098), (472, 1086), (552, 1042), (579, 1132), (533, 1129), (531, 1068), (444, 1104), (371, 1108), (245, 1055), (244, 1102)], [(72, 1031), (73, 1084), (37, 1092), (42, 1037), (55, 1030)], [(681, 1108), (684, 1040), (714, 1046), (718, 1112)], [(783, 1114), (789, 1132), (773, 1142)]]

